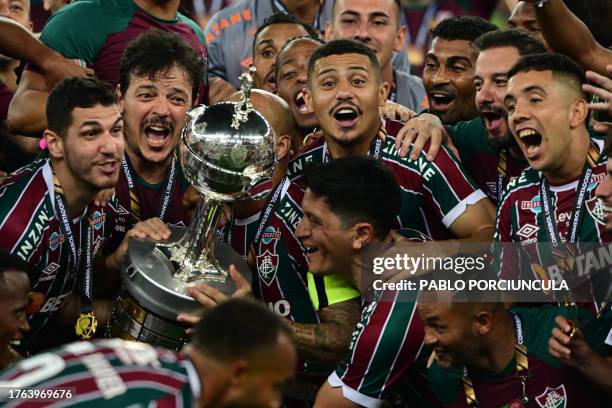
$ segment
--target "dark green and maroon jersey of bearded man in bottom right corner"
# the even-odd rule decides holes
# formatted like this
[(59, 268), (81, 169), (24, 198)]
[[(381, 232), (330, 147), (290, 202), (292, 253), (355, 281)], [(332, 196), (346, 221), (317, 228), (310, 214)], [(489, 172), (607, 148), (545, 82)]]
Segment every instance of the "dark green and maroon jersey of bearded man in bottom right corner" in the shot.
[[(548, 352), (551, 331), (557, 327), (556, 316), (588, 321), (580, 327), (587, 343), (596, 353), (610, 355), (610, 347), (604, 343), (610, 332), (610, 313), (593, 320), (584, 309), (545, 306), (540, 308), (516, 308), (522, 326), (522, 337), (527, 347), (529, 378), (526, 394), (529, 404), (522, 404), (522, 386), (516, 376), (516, 359), (513, 357), (499, 373), (469, 370), (476, 400), (480, 407), (491, 408), (573, 408), (608, 407), (610, 399), (593, 383), (574, 368), (561, 363)], [(447, 408), (467, 408), (460, 368), (443, 369), (433, 363), (428, 369), (431, 387), (440, 403)]]

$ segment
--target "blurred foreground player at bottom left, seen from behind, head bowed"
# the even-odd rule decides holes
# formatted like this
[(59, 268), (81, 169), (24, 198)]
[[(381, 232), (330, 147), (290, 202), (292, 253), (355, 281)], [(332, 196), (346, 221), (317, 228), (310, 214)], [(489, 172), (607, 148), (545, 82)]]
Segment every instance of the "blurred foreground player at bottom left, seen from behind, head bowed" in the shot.
[(234, 299), (202, 318), (184, 354), (119, 339), (72, 343), (0, 373), (0, 398), (10, 388), (37, 388), (65, 390), (53, 400), (68, 407), (280, 407), (296, 362), (279, 318)]

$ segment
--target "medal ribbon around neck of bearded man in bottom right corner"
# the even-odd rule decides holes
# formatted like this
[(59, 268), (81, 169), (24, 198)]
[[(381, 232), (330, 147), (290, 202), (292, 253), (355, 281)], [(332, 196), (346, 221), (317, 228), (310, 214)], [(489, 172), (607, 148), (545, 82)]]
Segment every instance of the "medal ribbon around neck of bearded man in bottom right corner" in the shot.
[[(516, 364), (516, 378), (521, 382), (521, 403), (526, 405), (529, 403), (529, 397), (527, 396), (527, 379), (531, 377), (529, 372), (529, 360), (527, 358), (527, 346), (524, 344), (523, 337), (523, 324), (521, 318), (514, 312), (510, 312), (512, 319), (514, 320), (514, 337), (516, 342), (514, 344), (514, 360)], [(465, 391), (465, 399), (468, 408), (476, 408), (479, 406), (478, 400), (476, 399), (476, 391), (474, 383), (468, 375), (466, 366), (463, 366), (463, 390)]]

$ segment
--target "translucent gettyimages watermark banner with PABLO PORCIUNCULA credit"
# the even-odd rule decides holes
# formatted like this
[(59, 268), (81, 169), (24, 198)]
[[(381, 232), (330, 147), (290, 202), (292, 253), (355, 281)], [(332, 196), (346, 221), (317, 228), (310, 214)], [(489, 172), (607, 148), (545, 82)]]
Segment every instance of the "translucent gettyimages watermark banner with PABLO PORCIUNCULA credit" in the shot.
[[(612, 244), (372, 244), (362, 259), (362, 293), (450, 292), (464, 299), (514, 302), (608, 302)], [(414, 296), (403, 297), (414, 300)]]

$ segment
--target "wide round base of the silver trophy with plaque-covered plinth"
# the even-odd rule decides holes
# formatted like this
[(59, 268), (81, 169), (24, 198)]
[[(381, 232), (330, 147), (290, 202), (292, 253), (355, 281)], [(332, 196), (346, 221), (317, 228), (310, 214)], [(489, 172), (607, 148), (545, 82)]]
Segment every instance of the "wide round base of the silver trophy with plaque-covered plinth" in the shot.
[[(180, 241), (186, 229), (170, 227), (169, 241), (132, 239), (121, 270), (123, 291), (115, 302), (110, 334), (169, 348), (180, 348), (186, 340), (185, 328), (177, 322), (179, 314), (198, 314), (202, 307), (187, 288), (205, 283), (225, 294), (232, 294), (236, 285), (229, 274), (219, 273), (212, 279), (177, 279), (181, 264), (173, 261), (172, 244)], [(227, 244), (215, 240), (213, 251), (225, 271), (230, 265), (251, 282), (251, 272), (242, 257)], [(176, 257), (174, 257), (176, 258)]]

